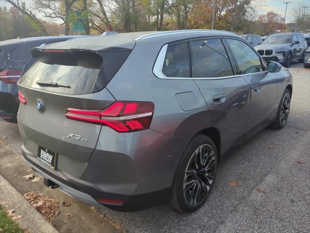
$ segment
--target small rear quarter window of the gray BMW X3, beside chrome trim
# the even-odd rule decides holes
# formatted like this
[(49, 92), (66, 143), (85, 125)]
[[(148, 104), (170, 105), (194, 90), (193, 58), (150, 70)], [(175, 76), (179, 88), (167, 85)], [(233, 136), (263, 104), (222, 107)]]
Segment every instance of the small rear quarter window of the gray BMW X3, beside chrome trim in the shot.
[(167, 77), (190, 77), (187, 43), (171, 45), (167, 48), (162, 73)]

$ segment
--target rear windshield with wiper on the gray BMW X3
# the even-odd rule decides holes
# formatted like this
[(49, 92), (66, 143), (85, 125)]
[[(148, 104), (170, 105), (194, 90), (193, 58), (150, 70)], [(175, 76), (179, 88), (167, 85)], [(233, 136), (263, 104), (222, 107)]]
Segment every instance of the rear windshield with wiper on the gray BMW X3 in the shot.
[(63, 94), (96, 92), (105, 87), (128, 55), (128, 51), (43, 53), (19, 83)]

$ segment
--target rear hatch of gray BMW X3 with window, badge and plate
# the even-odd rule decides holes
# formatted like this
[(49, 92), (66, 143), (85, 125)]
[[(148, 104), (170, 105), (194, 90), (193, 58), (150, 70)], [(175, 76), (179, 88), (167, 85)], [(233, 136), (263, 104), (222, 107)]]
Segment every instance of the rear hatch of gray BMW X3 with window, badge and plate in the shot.
[[(102, 110), (115, 99), (105, 88), (131, 50), (34, 49), (36, 62), (18, 82), (18, 122), (26, 150), (55, 168), (86, 163), (95, 149), (100, 124), (66, 117), (68, 109)], [(63, 166), (63, 165), (60, 165)], [(81, 167), (82, 168), (82, 167)]]

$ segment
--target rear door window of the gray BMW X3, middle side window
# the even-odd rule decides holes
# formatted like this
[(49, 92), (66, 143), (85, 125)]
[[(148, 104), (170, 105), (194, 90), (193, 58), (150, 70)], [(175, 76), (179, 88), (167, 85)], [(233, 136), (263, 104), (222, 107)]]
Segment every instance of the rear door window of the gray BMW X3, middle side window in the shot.
[(220, 39), (189, 42), (193, 78), (233, 75), (233, 69)]

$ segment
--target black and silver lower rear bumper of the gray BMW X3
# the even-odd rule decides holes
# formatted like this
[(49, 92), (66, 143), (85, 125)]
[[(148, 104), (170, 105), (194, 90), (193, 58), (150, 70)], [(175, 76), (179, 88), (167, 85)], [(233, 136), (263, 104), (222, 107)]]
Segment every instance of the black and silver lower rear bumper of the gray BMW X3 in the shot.
[[(58, 184), (60, 186), (59, 189), (67, 195), (87, 204), (96, 206), (97, 208), (105, 209), (105, 207), (108, 207), (109, 209), (116, 211), (132, 212), (164, 204), (170, 200), (171, 188), (139, 195), (123, 195), (104, 192), (96, 185), (70, 177), (68, 174), (62, 174), (62, 177), (55, 175), (45, 167), (41, 166), (39, 164), (40, 162), (37, 162), (36, 159), (33, 159), (32, 156), (30, 156), (30, 151), (24, 146), (22, 146), (22, 154), (27, 164), (41, 177)], [(98, 201), (99, 199), (124, 202), (121, 204), (101, 203)]]

